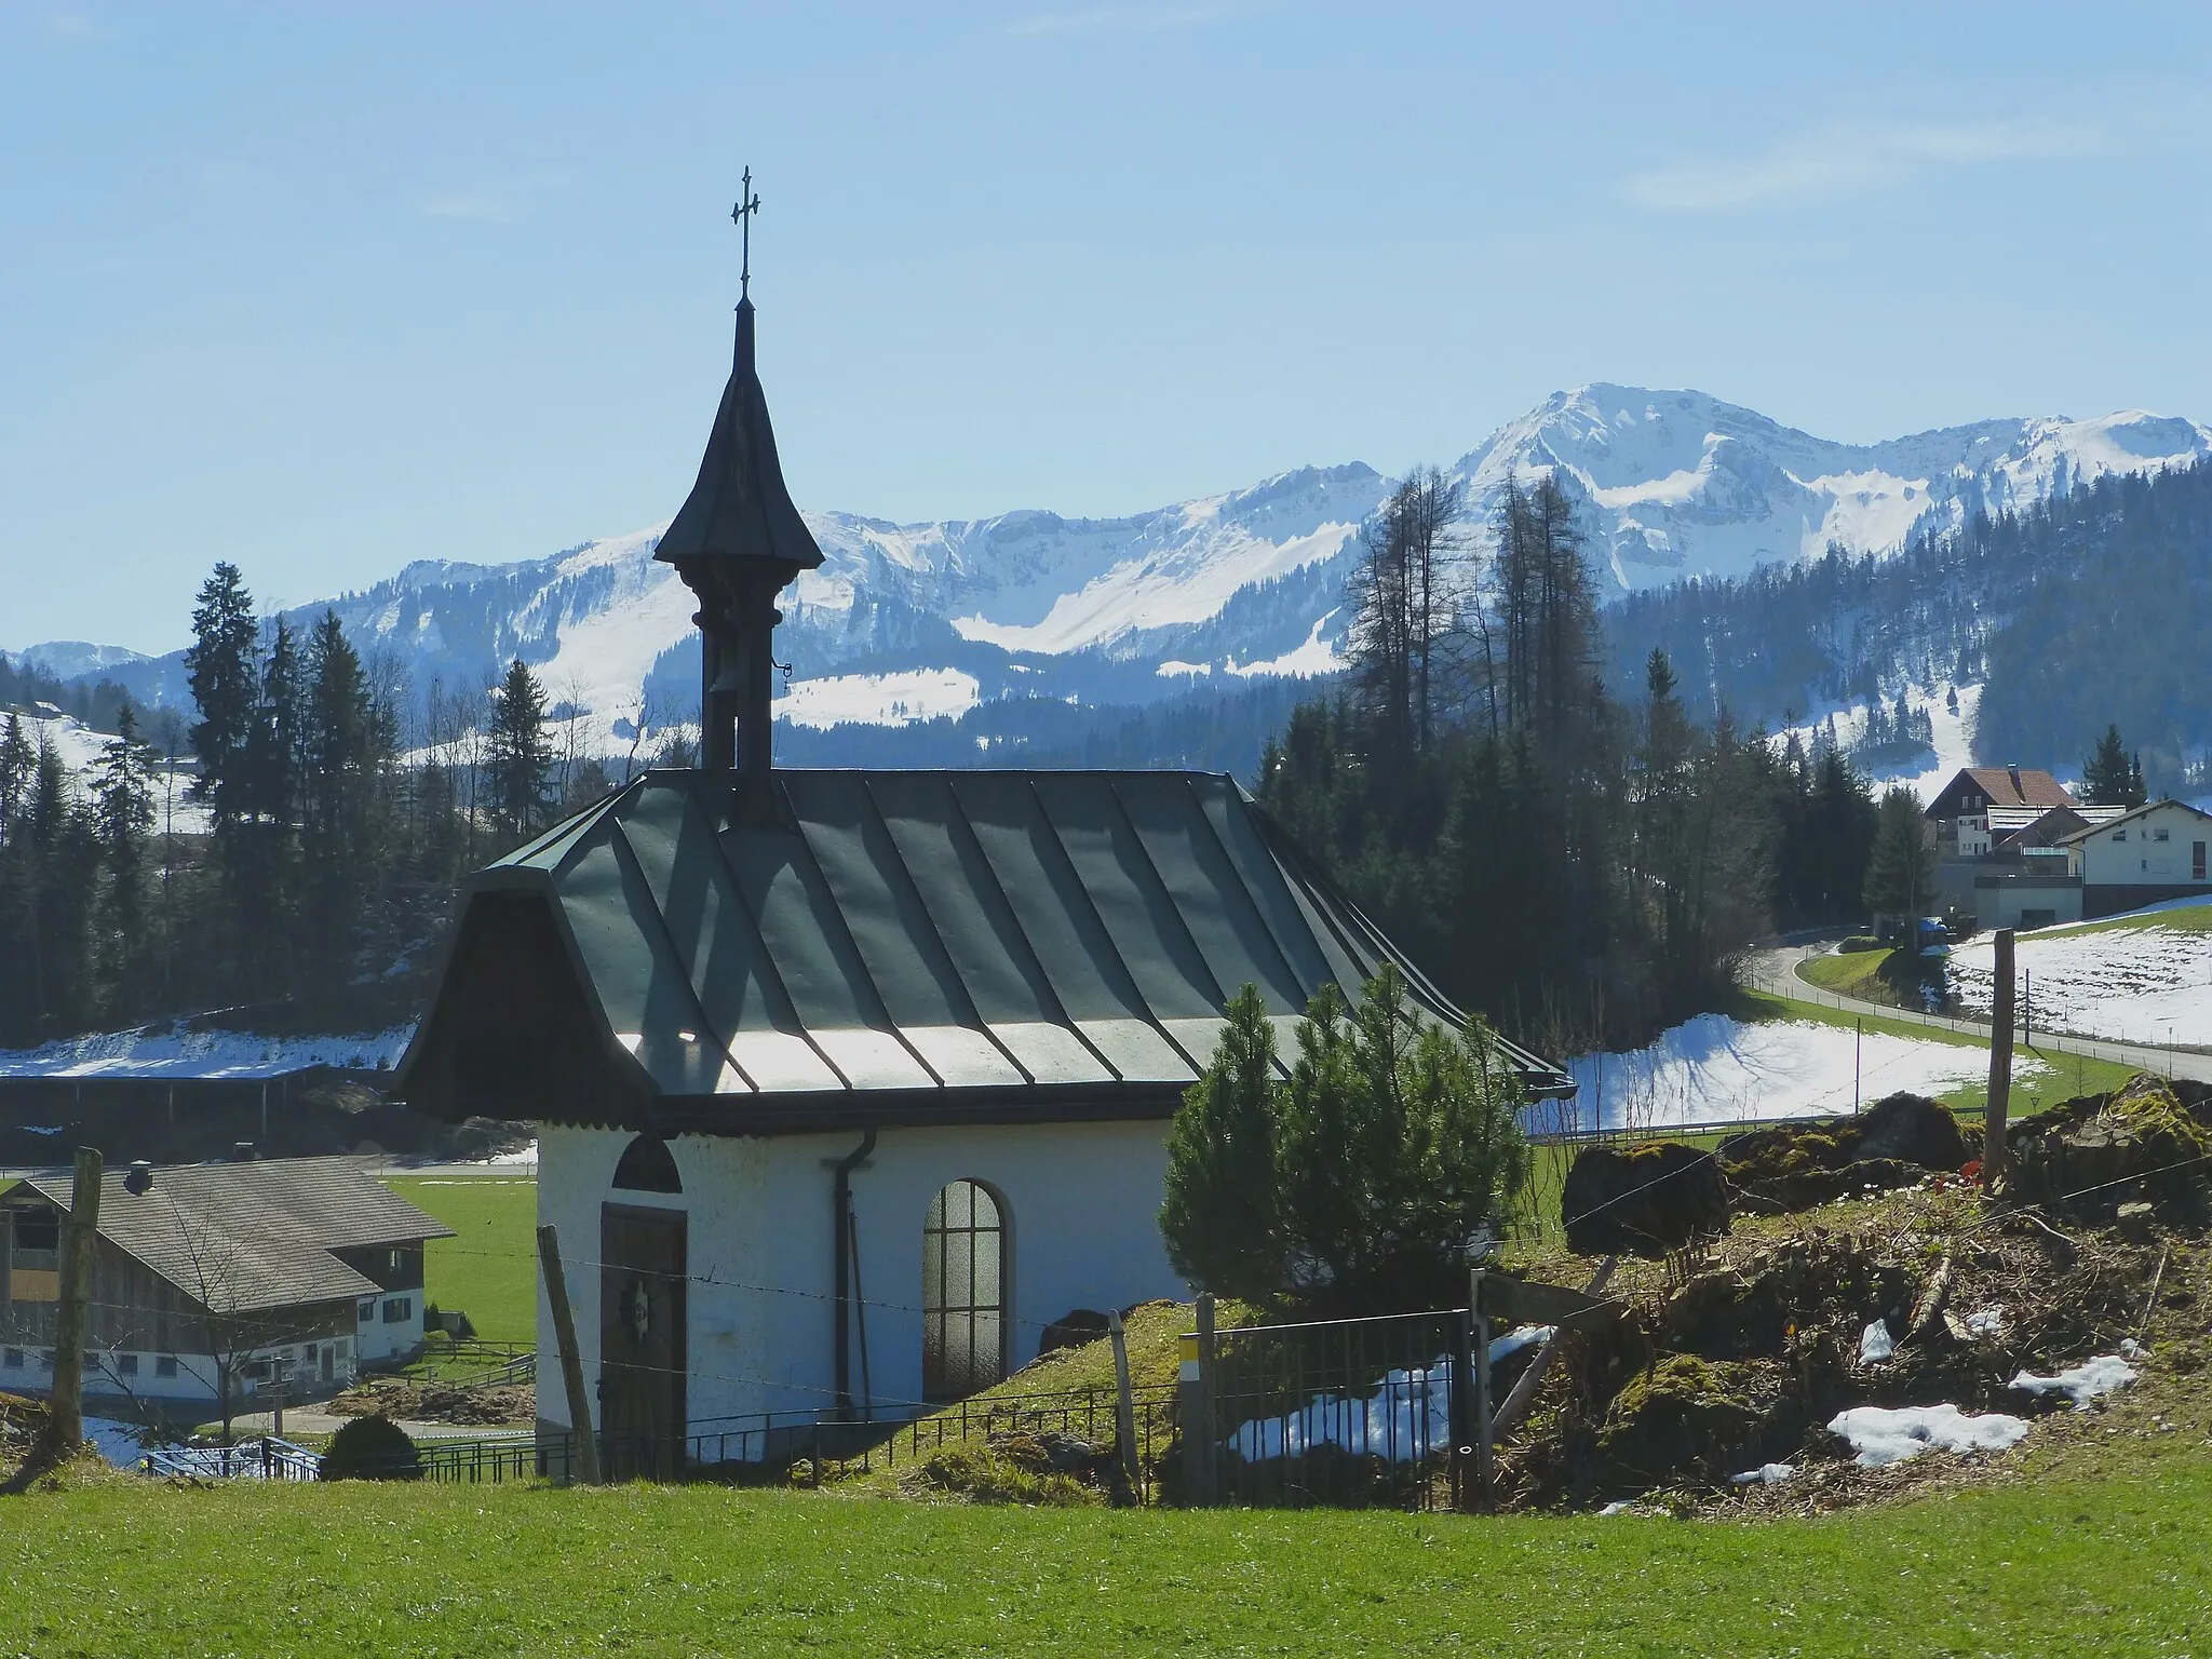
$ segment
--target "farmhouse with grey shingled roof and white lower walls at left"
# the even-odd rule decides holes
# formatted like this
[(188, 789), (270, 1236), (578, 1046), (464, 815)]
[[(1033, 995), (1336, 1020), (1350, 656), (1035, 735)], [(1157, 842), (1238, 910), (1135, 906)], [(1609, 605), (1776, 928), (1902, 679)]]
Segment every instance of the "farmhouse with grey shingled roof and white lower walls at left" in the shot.
[[(71, 1177), (0, 1192), (0, 1389), (53, 1376)], [(445, 1228), (343, 1157), (108, 1170), (84, 1387), (212, 1405), (343, 1387), (422, 1345), (422, 1245)]]

